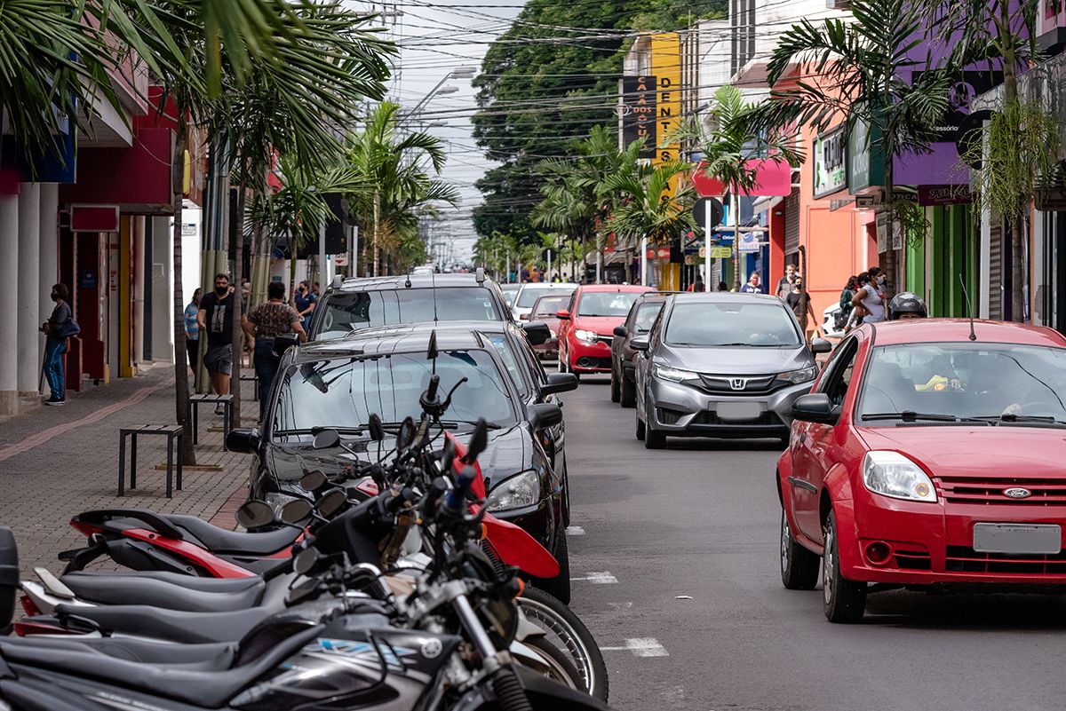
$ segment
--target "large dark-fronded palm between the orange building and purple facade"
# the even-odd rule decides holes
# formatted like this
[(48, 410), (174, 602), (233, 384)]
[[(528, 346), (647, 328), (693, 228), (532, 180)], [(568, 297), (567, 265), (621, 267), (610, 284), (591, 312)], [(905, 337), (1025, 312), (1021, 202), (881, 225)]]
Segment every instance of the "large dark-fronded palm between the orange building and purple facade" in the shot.
[[(910, 200), (897, 199), (893, 161), (908, 153), (926, 153), (937, 139), (938, 125), (950, 106), (953, 84), (946, 63), (917, 57), (924, 22), (920, 3), (911, 0), (852, 0), (852, 19), (804, 19), (778, 39), (768, 65), (774, 86), (798, 65), (791, 88), (771, 92), (748, 119), (753, 130), (790, 133), (802, 126), (822, 131), (843, 120), (850, 132), (856, 122), (870, 127), (885, 160), (885, 203), (904, 234), (923, 233), (925, 218)], [(909, 80), (901, 72), (915, 71)], [(898, 279), (895, 251), (888, 251), (887, 270)]]

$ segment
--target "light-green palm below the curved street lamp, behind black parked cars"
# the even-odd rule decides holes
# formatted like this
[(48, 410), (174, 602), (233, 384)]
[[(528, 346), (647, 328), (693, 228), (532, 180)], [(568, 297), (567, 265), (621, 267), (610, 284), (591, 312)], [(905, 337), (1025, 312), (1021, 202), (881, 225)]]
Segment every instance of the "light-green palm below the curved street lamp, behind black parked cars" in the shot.
[(445, 167), (440, 139), (421, 131), (402, 135), (399, 112), (397, 103), (377, 104), (367, 117), (366, 128), (355, 134), (348, 155), (371, 186), (350, 195), (349, 201), (360, 216), (362, 234), (368, 235), (375, 277), (381, 274), (382, 250), (401, 243), (402, 222), (416, 206), (455, 204), (459, 199), (454, 186), (431, 176), (431, 171), (439, 176)]

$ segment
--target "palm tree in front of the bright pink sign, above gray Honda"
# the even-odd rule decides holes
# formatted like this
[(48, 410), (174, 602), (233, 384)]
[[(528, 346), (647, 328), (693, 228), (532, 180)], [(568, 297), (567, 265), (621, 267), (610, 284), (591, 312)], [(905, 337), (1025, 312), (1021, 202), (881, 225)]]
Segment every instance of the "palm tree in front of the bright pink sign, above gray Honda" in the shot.
[[(791, 138), (780, 134), (753, 131), (746, 117), (755, 104), (744, 102), (741, 90), (736, 86), (723, 86), (714, 93), (714, 103), (709, 111), (708, 125), (690, 121), (671, 139), (694, 139), (704, 155), (701, 171), (720, 180), (732, 199), (730, 214), (733, 218), (733, 288), (740, 288), (740, 200), (739, 196), (749, 194), (756, 186), (758, 170), (753, 159), (764, 158), (774, 162), (787, 162), (796, 166), (803, 155), (793, 146)], [(710, 230), (708, 230), (708, 233)], [(710, 238), (707, 238), (708, 264), (710, 264)], [(710, 279), (710, 274), (706, 277)]]

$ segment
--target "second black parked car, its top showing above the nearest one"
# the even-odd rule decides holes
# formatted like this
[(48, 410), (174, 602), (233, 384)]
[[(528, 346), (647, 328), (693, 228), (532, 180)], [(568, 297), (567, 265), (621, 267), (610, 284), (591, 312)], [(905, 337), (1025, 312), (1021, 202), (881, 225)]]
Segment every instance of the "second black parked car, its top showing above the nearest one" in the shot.
[[(311, 312), (310, 341), (340, 338), (352, 331), (422, 321), (513, 321), (499, 285), (474, 274), (398, 275), (335, 279)], [(524, 325), (530, 343), (551, 337), (544, 323)]]

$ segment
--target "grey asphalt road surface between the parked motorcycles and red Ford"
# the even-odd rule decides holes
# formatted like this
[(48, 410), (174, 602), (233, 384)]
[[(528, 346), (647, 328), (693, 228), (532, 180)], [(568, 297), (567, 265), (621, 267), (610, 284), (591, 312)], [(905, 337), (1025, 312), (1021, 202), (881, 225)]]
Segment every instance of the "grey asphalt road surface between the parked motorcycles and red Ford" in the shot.
[(779, 445), (647, 450), (605, 380), (583, 378), (564, 412), (571, 607), (604, 649), (612, 707), (1066, 707), (1063, 597), (882, 593), (862, 624), (831, 625), (821, 590), (780, 583)]

